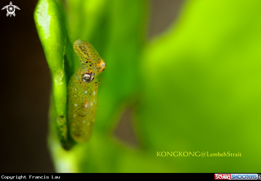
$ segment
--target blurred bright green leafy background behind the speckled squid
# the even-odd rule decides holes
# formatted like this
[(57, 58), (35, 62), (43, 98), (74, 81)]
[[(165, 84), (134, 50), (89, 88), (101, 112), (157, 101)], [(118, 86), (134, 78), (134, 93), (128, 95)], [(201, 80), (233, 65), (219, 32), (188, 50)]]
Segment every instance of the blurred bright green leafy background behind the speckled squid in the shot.
[[(261, 2), (175, 3), (162, 9), (172, 17), (165, 29), (153, 25), (161, 14), (150, 15), (150, 1), (57, 5), (67, 43), (89, 41), (106, 62), (88, 143), (62, 149), (50, 101), (57, 172), (260, 171)], [(69, 45), (65, 59), (76, 62)], [(67, 78), (77, 66), (68, 67)], [(157, 157), (175, 151), (242, 157)]]

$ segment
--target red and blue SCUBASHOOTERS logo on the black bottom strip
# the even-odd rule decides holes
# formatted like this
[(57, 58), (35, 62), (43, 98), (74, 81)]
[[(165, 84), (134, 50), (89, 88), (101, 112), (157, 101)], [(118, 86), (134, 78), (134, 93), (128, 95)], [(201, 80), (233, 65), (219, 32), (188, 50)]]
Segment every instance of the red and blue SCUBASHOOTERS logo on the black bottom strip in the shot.
[(215, 180), (258, 180), (259, 175), (260, 174), (215, 174)]

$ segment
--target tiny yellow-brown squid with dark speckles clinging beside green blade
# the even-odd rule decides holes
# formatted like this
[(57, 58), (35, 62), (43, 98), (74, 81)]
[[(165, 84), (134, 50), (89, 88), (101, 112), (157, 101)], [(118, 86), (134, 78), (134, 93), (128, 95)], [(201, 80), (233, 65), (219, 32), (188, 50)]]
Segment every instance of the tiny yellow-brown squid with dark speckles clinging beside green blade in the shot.
[[(87, 41), (77, 40), (73, 49), (81, 66), (68, 85), (68, 119), (71, 136), (77, 142), (90, 139), (97, 111), (97, 76), (105, 69), (105, 63)], [(85, 78), (89, 76), (89, 79)], [(87, 82), (89, 81), (89, 82)]]

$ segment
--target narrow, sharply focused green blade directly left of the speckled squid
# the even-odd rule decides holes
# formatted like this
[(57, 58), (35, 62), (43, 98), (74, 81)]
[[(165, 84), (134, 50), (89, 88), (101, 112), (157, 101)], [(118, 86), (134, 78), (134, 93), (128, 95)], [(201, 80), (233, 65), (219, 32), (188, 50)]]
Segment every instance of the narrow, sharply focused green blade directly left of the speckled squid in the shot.
[(68, 140), (66, 122), (67, 87), (64, 54), (67, 35), (61, 12), (56, 1), (39, 0), (34, 11), (34, 21), (52, 73), (56, 126), (61, 143), (66, 147), (65, 144)]

